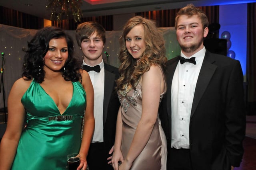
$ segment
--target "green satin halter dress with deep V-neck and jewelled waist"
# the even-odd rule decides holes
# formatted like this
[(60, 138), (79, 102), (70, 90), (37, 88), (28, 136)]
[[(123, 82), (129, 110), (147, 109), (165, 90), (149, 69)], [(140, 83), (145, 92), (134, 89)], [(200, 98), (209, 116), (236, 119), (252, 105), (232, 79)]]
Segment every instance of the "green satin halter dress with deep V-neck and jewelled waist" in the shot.
[(20, 137), (12, 170), (67, 170), (67, 155), (80, 149), (86, 107), (84, 88), (80, 82), (72, 84), (72, 100), (61, 115), (52, 98), (32, 81), (21, 100), (27, 126)]

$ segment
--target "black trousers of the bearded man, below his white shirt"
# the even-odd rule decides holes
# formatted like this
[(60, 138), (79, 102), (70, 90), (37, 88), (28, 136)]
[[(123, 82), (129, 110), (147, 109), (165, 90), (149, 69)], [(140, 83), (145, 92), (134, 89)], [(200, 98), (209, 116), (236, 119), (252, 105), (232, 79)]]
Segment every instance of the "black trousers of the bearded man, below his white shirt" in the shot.
[(169, 155), (167, 170), (192, 170), (189, 149), (172, 148)]

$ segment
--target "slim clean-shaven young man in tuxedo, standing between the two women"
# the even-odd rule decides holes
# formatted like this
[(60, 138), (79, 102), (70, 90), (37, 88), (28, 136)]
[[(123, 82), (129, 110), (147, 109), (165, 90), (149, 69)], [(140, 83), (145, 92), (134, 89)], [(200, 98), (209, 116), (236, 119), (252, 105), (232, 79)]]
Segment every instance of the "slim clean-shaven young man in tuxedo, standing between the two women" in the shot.
[(120, 106), (115, 91), (118, 68), (106, 64), (102, 52), (106, 42), (106, 31), (97, 22), (78, 25), (76, 41), (84, 54), (82, 68), (90, 75), (94, 88), (95, 129), (87, 156), (90, 170), (112, 170), (107, 158), (114, 145), (116, 117)]

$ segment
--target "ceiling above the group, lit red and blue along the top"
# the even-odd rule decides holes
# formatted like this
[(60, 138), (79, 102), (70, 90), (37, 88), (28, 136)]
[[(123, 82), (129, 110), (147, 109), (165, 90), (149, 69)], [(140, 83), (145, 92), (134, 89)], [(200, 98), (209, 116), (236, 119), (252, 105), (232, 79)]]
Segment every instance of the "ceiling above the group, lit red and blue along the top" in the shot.
[[(192, 3), (195, 6), (213, 6), (256, 2), (256, 0), (82, 0), (83, 17), (107, 16), (178, 9)], [(0, 6), (50, 20), (48, 0), (0, 0)]]

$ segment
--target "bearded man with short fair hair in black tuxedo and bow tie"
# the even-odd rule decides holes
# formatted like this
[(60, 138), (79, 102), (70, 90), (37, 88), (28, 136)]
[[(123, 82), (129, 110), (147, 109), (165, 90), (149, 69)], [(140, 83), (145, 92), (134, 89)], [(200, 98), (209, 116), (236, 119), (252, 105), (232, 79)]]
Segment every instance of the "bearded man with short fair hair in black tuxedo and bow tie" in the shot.
[(194, 5), (175, 19), (181, 56), (167, 63), (168, 90), (160, 109), (168, 170), (233, 170), (245, 136), (240, 62), (207, 51), (208, 19)]

